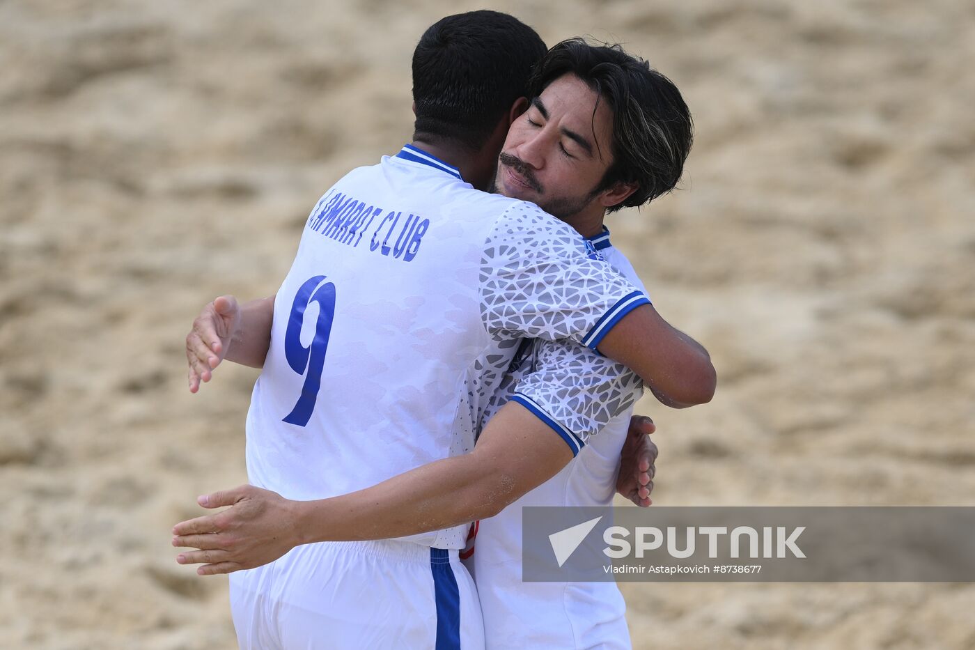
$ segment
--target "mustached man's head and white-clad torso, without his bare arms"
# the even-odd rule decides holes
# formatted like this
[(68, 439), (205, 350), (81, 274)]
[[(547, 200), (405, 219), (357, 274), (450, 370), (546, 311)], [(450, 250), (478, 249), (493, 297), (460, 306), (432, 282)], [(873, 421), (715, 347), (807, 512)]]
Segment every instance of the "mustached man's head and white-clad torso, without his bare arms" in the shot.
[[(529, 97), (530, 107), (511, 125), (502, 148), (497, 189), (571, 224), (639, 284), (633, 266), (610, 243), (604, 216), (643, 205), (679, 181), (692, 140), (680, 92), (618, 47), (570, 39), (540, 61)], [(606, 200), (604, 190), (614, 186), (628, 193)], [(526, 385), (557, 383), (553, 375), (560, 369), (571, 369), (585, 385), (583, 402), (569, 405), (579, 413), (594, 412), (595, 403), (627, 403), (642, 394), (632, 372), (592, 350), (534, 341), (516, 359), (486, 418), (508, 400), (524, 400)], [(665, 394), (658, 397), (668, 401)], [(626, 606), (615, 583), (522, 581), (522, 508), (609, 506), (616, 455), (631, 413), (625, 409), (608, 422), (600, 420), (604, 427), (593, 432), (574, 461), (480, 522), (471, 559), (487, 648), (630, 647)]]

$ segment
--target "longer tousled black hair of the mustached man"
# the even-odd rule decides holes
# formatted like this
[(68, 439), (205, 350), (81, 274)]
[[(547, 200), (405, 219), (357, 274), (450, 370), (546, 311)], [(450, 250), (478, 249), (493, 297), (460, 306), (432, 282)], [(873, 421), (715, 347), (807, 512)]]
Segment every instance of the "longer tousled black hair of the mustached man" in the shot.
[(612, 109), (613, 163), (593, 193), (620, 182), (637, 185), (608, 211), (643, 205), (673, 189), (693, 142), (690, 111), (677, 86), (618, 45), (595, 46), (571, 38), (539, 61), (530, 81), (531, 97), (567, 73), (588, 84)]

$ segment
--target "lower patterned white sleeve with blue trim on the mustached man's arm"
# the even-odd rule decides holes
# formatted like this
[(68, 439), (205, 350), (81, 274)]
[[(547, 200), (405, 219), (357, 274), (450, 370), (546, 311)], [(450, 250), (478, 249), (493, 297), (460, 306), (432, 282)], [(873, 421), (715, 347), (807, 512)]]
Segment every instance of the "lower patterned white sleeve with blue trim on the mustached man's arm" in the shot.
[(572, 455), (643, 396), (632, 370), (571, 341), (534, 341), (530, 370), (512, 387), (520, 403), (562, 436)]

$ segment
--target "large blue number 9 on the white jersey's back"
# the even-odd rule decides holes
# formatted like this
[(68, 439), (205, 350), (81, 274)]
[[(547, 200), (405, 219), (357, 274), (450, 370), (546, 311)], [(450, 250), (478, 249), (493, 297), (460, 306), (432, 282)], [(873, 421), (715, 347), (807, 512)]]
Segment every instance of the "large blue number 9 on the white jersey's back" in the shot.
[[(307, 425), (312, 411), (315, 410), (318, 389), (322, 386), (325, 352), (329, 348), (331, 320), (335, 315), (335, 285), (328, 282), (319, 287), (324, 279), (324, 275), (316, 275), (298, 289), (285, 332), (285, 357), (288, 365), (298, 375), (305, 376), (301, 395), (292, 412), (284, 418), (284, 422), (298, 427)], [(318, 323), (315, 325), (315, 338), (311, 345), (305, 347), (301, 345), (301, 324), (304, 322), (305, 309), (312, 303), (318, 303), (319, 306)]]

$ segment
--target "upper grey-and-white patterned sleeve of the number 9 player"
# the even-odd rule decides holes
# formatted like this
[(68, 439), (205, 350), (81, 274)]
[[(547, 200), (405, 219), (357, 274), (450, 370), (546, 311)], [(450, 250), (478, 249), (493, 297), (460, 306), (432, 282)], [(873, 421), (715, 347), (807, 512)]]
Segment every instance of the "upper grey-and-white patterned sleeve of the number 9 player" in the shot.
[(596, 349), (643, 291), (571, 226), (519, 202), (494, 223), (480, 274), (481, 315), (495, 339), (571, 339)]

